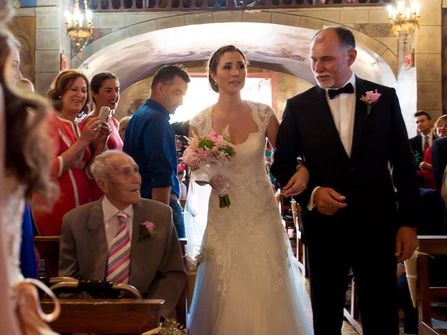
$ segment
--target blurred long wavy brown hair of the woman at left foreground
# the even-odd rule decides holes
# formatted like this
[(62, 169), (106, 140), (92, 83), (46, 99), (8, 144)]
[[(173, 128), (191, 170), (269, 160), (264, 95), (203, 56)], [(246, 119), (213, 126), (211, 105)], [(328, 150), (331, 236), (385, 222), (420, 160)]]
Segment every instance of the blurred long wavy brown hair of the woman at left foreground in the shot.
[[(14, 40), (8, 31), (0, 31), (1, 53), (10, 54)], [(57, 195), (50, 179), (52, 141), (47, 135), (49, 107), (43, 98), (20, 94), (9, 87), (6, 63), (0, 63), (6, 114), (6, 175), (25, 185), (26, 195), (37, 193), (43, 200)]]

